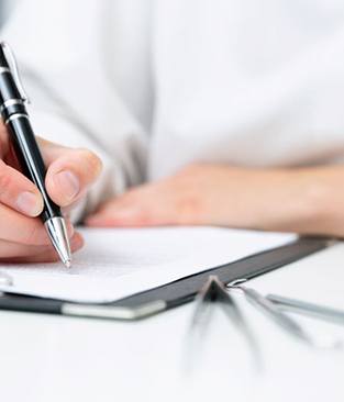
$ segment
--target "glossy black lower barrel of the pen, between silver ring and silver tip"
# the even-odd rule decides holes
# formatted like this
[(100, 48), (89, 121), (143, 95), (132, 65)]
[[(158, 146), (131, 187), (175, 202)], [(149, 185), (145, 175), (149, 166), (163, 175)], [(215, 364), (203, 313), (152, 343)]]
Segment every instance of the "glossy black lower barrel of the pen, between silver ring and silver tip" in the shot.
[[(49, 198), (45, 189), (45, 164), (34, 132), (26, 114), (14, 115), (7, 123), (11, 143), (22, 172), (35, 183), (44, 200), (42, 220), (60, 216), (60, 209)], [(14, 118), (13, 116), (13, 118)]]

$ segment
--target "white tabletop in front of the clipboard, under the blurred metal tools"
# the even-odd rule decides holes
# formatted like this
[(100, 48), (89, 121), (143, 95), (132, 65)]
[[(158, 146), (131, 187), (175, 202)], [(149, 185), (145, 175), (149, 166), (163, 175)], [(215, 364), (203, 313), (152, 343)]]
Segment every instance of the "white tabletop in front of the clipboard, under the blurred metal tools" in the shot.
[[(340, 244), (249, 286), (344, 309), (343, 261)], [(220, 308), (202, 333), (190, 332), (193, 304), (137, 323), (0, 312), (1, 401), (344, 400), (344, 347), (307, 347), (237, 299), (260, 367)], [(344, 342), (344, 325), (293, 316)]]

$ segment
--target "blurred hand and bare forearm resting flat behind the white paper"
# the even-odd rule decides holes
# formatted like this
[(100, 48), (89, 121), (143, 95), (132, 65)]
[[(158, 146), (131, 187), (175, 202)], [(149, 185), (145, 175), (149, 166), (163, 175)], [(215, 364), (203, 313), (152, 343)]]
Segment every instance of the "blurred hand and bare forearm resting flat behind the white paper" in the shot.
[(189, 166), (134, 188), (86, 221), (90, 226), (219, 225), (344, 234), (343, 167), (249, 169)]

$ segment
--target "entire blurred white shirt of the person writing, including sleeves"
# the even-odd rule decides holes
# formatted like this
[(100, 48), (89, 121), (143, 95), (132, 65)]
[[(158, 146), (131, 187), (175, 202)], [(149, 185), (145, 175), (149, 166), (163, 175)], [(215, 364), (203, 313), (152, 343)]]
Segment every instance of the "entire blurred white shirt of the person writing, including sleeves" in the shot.
[(22, 0), (1, 38), (36, 132), (102, 156), (88, 210), (195, 161), (344, 158), (342, 0)]

